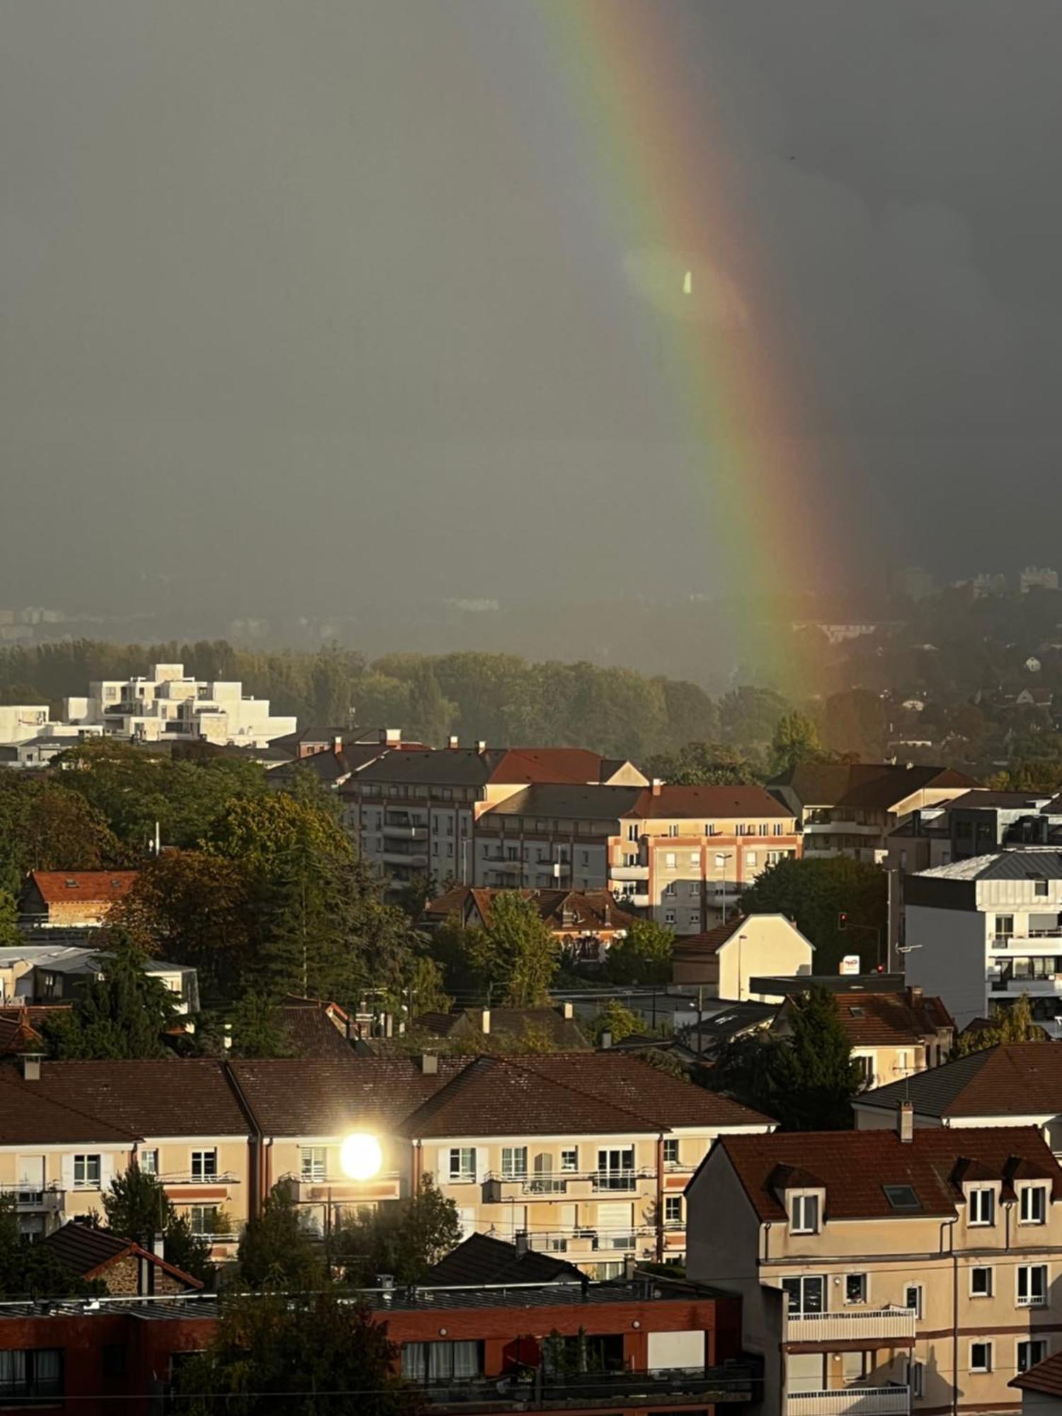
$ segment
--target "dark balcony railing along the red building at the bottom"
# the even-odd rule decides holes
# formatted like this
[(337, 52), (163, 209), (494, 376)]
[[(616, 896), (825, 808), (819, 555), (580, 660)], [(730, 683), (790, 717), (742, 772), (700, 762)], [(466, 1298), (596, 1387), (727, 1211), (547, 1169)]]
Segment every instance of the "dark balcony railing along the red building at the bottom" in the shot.
[(513, 1372), (503, 1376), (472, 1376), (464, 1381), (416, 1382), (416, 1391), (433, 1408), (462, 1410), (551, 1410), (571, 1406), (654, 1406), (687, 1405), (692, 1398), (704, 1405), (750, 1402), (759, 1395), (758, 1368), (739, 1362), (724, 1366), (649, 1372)]

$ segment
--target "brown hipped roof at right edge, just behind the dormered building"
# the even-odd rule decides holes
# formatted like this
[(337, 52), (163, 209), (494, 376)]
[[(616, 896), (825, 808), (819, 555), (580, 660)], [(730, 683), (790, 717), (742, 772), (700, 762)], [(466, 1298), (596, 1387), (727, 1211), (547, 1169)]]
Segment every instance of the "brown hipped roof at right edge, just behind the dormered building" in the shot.
[(860, 1100), (895, 1107), (908, 1096), (923, 1116), (1054, 1116), (1062, 1113), (1062, 1046), (1001, 1044), (879, 1086)]

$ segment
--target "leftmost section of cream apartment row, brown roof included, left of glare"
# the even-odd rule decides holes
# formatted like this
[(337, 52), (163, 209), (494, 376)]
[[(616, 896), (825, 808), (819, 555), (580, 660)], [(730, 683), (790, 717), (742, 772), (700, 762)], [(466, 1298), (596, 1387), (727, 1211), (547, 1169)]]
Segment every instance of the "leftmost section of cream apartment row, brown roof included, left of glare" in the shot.
[(102, 1214), (110, 1180), (136, 1161), (214, 1256), (231, 1257), (248, 1216), (251, 1130), (221, 1062), (0, 1066), (0, 1194), (28, 1235)]

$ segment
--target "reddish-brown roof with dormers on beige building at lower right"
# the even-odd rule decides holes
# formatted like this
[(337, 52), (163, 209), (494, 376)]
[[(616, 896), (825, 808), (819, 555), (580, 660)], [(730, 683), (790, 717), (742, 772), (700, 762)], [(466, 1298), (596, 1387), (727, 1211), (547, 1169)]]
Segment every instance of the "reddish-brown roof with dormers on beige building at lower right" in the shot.
[(827, 1222), (895, 1216), (899, 1211), (889, 1204), (885, 1185), (910, 1185), (923, 1215), (953, 1215), (961, 1199), (954, 1178), (963, 1160), (978, 1161), (1010, 1182), (1008, 1163), (1020, 1157), (1032, 1174), (1051, 1178), (1055, 1198), (1062, 1198), (1062, 1170), (1034, 1126), (926, 1127), (915, 1130), (913, 1140), (906, 1143), (895, 1130), (792, 1131), (724, 1136), (716, 1146), (726, 1153), (763, 1221), (786, 1218), (775, 1188), (779, 1165), (821, 1178)]

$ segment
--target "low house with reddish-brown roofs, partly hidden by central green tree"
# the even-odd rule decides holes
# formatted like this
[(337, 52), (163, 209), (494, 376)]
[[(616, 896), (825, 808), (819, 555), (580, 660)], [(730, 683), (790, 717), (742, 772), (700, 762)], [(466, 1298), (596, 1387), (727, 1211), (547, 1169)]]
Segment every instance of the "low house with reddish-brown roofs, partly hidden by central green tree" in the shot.
[(616, 896), (609, 891), (572, 889), (479, 889), (474, 885), (455, 885), (453, 889), (429, 901), (423, 908), (419, 925), (435, 930), (449, 919), (457, 919), (464, 926), (487, 929), (491, 910), (498, 895), (517, 893), (530, 901), (549, 932), (561, 940), (565, 952), (573, 957), (599, 963), (609, 947), (623, 939), (636, 916), (620, 909)]

